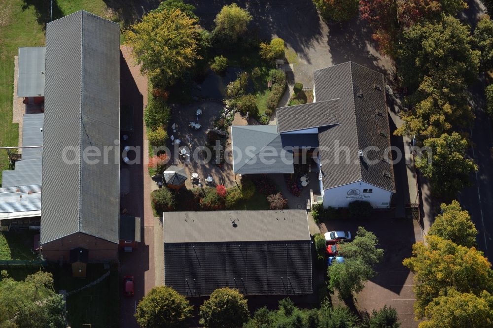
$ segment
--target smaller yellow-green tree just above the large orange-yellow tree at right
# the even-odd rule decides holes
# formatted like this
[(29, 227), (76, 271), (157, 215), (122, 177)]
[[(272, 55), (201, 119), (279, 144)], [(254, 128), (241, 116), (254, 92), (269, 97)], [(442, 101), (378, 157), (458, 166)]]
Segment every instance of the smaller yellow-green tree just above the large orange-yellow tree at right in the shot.
[(443, 203), (441, 208), (442, 214), (435, 218), (428, 234), (451, 240), (465, 247), (476, 246), (478, 230), (469, 212), (463, 210), (457, 200), (453, 200), (449, 205)]

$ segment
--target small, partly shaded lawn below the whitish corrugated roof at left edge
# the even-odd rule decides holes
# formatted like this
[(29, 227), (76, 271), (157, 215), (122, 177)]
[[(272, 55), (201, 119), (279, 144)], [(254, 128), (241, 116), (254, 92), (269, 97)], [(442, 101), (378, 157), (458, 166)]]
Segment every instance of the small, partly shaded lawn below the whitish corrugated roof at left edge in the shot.
[(0, 232), (0, 260), (35, 260), (34, 230)]

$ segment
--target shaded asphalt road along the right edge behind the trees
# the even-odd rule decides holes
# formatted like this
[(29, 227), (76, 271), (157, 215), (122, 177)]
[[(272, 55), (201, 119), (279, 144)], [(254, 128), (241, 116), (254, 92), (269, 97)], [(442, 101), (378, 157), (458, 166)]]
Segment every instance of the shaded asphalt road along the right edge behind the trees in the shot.
[[(478, 18), (484, 13), (484, 8), (478, 0), (468, 1), (469, 9), (464, 11), (463, 20), (475, 26)], [(486, 83), (480, 78), (471, 88), (471, 105), (476, 119), (471, 128), (473, 146), (469, 156), (478, 165), (478, 172), (471, 179), (473, 186), (466, 188), (459, 195), (462, 206), (469, 211), (471, 218), (479, 230), (477, 242), (479, 249), (492, 259), (493, 255), (493, 131), (492, 121), (484, 112)]]

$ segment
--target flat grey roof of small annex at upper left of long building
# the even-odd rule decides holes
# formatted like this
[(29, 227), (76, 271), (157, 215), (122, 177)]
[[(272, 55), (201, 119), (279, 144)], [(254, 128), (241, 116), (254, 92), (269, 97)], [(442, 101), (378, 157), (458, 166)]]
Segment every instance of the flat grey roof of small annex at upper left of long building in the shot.
[(44, 96), (45, 47), (19, 48), (17, 97)]

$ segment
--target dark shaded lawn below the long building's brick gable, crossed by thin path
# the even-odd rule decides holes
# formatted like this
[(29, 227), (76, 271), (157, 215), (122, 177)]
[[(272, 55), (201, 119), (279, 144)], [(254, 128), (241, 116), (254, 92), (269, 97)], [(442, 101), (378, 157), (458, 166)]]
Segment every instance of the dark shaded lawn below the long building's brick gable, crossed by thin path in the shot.
[[(101, 277), (107, 269), (103, 264), (88, 264), (85, 279), (73, 278), (70, 266), (50, 267), (55, 281), (55, 290), (67, 292), (77, 290)], [(68, 321), (72, 328), (119, 327), (120, 295), (118, 269), (111, 267), (111, 273), (100, 283), (67, 297)]]

